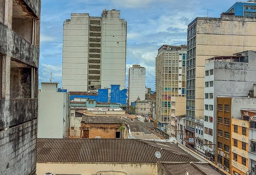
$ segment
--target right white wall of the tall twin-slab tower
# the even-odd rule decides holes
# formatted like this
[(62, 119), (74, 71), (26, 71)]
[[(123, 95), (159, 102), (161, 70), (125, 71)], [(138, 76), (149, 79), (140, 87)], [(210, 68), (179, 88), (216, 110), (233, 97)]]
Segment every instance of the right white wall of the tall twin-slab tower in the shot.
[(125, 88), (127, 23), (119, 17), (119, 10), (104, 10), (101, 15), (101, 88)]

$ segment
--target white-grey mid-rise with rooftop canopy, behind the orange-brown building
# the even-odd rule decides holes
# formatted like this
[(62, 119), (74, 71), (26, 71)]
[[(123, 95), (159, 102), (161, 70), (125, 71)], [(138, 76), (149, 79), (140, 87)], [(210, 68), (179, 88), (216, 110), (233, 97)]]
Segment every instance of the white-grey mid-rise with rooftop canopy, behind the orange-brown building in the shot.
[[(204, 78), (204, 144), (216, 144), (217, 96), (244, 96), (253, 89), (256, 82), (256, 51), (244, 51), (232, 56), (216, 56), (206, 60)], [(224, 76), (225, 75), (225, 76)], [(197, 126), (197, 124), (196, 124)], [(212, 145), (196, 145), (214, 159)], [(201, 149), (199, 149), (201, 150)]]

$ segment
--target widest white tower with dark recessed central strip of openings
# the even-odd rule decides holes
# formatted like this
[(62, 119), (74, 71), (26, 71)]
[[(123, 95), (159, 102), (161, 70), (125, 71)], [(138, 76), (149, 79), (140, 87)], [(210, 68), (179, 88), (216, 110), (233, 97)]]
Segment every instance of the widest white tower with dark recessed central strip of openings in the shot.
[(72, 13), (63, 25), (62, 86), (68, 91), (125, 88), (126, 29), (119, 10), (103, 10), (101, 17)]

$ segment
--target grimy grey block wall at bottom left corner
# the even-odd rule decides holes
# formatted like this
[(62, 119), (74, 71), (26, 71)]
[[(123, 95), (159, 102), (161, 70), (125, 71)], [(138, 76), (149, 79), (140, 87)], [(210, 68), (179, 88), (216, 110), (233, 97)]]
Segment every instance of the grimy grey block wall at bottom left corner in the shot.
[(36, 166), (36, 119), (0, 132), (0, 174), (28, 175)]

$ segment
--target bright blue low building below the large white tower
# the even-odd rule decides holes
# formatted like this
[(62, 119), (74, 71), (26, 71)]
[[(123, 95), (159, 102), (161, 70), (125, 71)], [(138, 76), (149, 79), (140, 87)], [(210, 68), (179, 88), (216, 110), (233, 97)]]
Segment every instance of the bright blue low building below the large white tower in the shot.
[[(74, 98), (86, 98), (96, 100), (96, 102), (107, 103), (109, 98), (108, 90), (109, 89), (98, 89), (98, 95), (71, 95), (70, 100), (74, 100)], [(126, 93), (127, 89), (120, 90), (120, 85), (111, 85), (110, 102), (126, 105)]]

